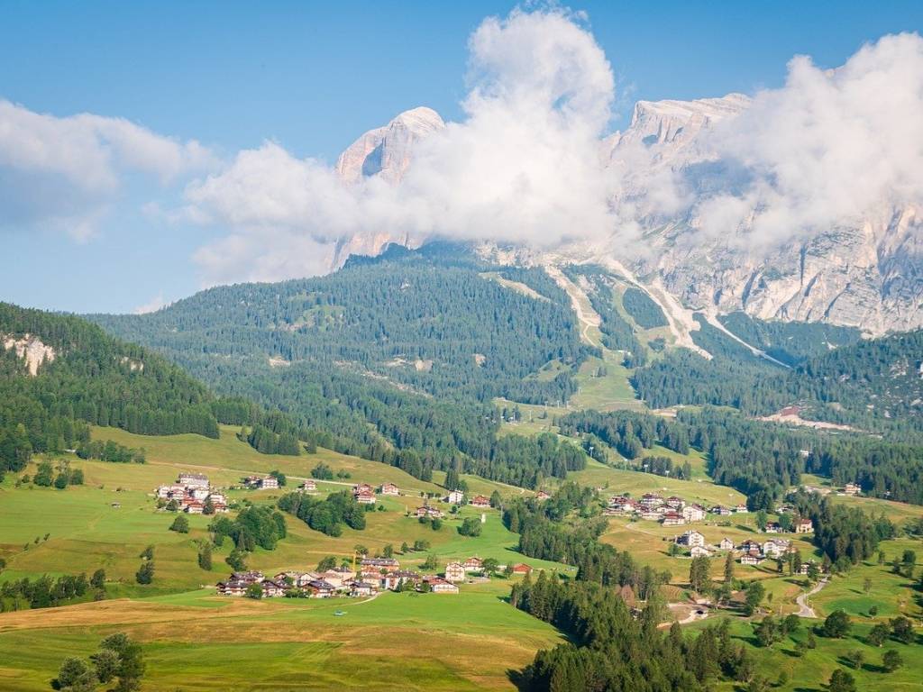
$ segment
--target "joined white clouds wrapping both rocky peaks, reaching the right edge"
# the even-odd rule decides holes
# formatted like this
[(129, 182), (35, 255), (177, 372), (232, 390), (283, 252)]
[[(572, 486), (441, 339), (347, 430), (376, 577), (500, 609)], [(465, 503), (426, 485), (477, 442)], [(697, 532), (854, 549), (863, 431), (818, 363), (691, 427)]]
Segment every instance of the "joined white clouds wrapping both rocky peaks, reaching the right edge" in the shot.
[(796, 57), (782, 88), (704, 125), (693, 143), (665, 153), (636, 137), (617, 161), (601, 157), (612, 69), (583, 18), (487, 18), (469, 50), (465, 117), (416, 142), (399, 185), (343, 185), (272, 142), (189, 185), (186, 216), (231, 230), (198, 252), (206, 282), (319, 273), (332, 244), (356, 234), (543, 248), (607, 240), (641, 254), (645, 227), (689, 219), (698, 234), (686, 242), (765, 249), (923, 202), (916, 34), (884, 37), (835, 70)]

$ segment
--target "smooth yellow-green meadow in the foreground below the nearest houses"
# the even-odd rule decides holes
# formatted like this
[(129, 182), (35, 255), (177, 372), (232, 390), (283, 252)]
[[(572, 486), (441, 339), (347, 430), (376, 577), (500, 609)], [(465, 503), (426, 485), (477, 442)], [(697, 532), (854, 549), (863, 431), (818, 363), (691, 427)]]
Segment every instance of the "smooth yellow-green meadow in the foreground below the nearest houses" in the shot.
[[(114, 631), (144, 643), (145, 692), (513, 689), (507, 672), (554, 645), (504, 603), (506, 583), (374, 601), (222, 600), (210, 591), (0, 615), (0, 688), (48, 689), (65, 655)], [(335, 616), (334, 611), (345, 614)]]

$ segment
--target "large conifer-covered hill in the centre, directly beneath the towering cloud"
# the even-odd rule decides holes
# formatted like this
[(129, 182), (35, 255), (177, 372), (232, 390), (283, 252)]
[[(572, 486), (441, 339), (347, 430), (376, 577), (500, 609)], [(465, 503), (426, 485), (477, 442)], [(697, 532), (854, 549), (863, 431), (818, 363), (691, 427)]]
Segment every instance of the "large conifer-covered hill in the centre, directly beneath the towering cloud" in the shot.
[[(582, 455), (562, 447), (549, 458), (525, 437), (498, 442), (492, 400), (563, 402), (576, 391), (571, 371), (594, 351), (544, 271), (499, 268), (534, 297), (485, 279), (484, 268), (438, 245), (395, 249), (327, 277), (215, 288), (152, 315), (91, 319), (223, 395), (291, 414), (325, 447), (418, 477), (461, 467), (531, 486)], [(565, 366), (557, 376), (530, 376), (552, 360)]]

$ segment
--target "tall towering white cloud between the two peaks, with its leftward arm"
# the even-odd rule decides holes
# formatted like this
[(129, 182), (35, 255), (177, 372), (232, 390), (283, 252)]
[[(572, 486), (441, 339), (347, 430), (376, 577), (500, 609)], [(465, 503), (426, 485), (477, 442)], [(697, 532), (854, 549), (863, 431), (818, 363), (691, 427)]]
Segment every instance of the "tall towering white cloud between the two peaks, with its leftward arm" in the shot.
[(466, 118), (416, 144), (400, 185), (342, 185), (271, 142), (190, 185), (188, 215), (234, 229), (198, 253), (208, 282), (316, 273), (323, 244), (356, 233), (542, 246), (605, 236), (615, 217), (598, 149), (614, 80), (580, 21), (557, 9), (485, 19), (469, 42)]

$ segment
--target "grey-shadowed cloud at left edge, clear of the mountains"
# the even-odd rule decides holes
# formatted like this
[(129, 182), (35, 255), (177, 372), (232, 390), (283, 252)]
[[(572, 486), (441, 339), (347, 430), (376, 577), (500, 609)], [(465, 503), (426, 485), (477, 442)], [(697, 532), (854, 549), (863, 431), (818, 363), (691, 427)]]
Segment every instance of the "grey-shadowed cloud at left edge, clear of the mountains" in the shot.
[(168, 185), (214, 163), (198, 142), (162, 137), (122, 118), (56, 117), (0, 101), (0, 227), (92, 233), (126, 175)]

